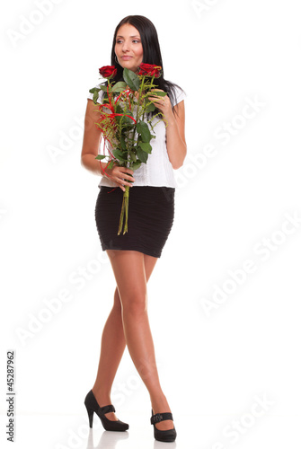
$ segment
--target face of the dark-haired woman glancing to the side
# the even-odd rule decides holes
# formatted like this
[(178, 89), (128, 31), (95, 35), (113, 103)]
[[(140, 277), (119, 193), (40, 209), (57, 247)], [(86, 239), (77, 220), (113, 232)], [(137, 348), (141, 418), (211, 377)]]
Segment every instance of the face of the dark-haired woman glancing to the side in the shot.
[(129, 23), (117, 31), (115, 54), (121, 67), (137, 72), (143, 61), (143, 48), (139, 31)]

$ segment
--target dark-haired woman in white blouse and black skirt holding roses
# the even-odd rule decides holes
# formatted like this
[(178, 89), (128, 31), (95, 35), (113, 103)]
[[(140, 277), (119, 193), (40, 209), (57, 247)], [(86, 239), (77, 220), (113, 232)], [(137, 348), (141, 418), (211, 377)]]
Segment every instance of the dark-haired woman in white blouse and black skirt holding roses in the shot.
[[(128, 16), (120, 22), (114, 34), (111, 52), (111, 65), (117, 67), (114, 81), (122, 79), (123, 68), (137, 73), (143, 62), (163, 67), (155, 26), (146, 17)], [(104, 171), (106, 163), (95, 159), (101, 133), (94, 125), (98, 112), (95, 111), (93, 96), (88, 99), (82, 163), (86, 169), (102, 175), (95, 219), (102, 250), (107, 251), (117, 286), (113, 307), (102, 331), (96, 381), (84, 403), (90, 427), (95, 412), (105, 429), (128, 429), (128, 424), (116, 417), (111, 404), (111, 386), (128, 345), (130, 357), (150, 394), (155, 439), (174, 441), (173, 415), (155, 365), (155, 349), (147, 317), (146, 283), (173, 225), (176, 187), (173, 169), (181, 167), (187, 151), (184, 136), (185, 94), (178, 86), (164, 80), (164, 72), (156, 81), (158, 89), (164, 90), (167, 95), (152, 97), (152, 100), (158, 109), (156, 112), (164, 114), (167, 127), (164, 121), (155, 126), (152, 154), (136, 172), (116, 163), (111, 170)], [(99, 102), (102, 102), (101, 96)], [(117, 235), (125, 186), (131, 186), (128, 233)]]

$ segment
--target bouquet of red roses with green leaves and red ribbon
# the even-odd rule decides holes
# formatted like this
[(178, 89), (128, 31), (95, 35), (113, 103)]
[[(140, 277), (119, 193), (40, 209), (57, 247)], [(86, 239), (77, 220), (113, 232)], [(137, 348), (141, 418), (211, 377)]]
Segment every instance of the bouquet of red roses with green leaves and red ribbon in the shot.
[[(111, 168), (114, 163), (131, 170), (137, 170), (141, 163), (146, 163), (148, 154), (152, 152), (151, 140), (155, 138), (152, 134), (155, 126), (152, 121), (162, 113), (150, 115), (155, 112), (155, 103), (149, 98), (164, 96), (165, 92), (155, 91), (157, 86), (155, 78), (161, 76), (162, 67), (149, 64), (141, 64), (136, 75), (128, 68), (123, 70), (123, 79), (115, 83), (112, 78), (117, 73), (115, 66), (103, 66), (99, 69), (102, 78), (108, 80), (107, 85), (102, 84), (99, 88), (93, 87), (89, 92), (93, 93), (93, 101), (97, 104), (99, 92), (103, 91), (103, 101), (99, 106), (101, 113), (96, 126), (102, 131), (104, 141), (103, 154), (96, 159), (108, 158), (104, 169)], [(105, 154), (105, 148), (109, 154)], [(123, 193), (123, 201), (120, 213), (120, 225), (118, 235), (123, 228), (123, 233), (128, 232), (128, 196), (129, 186)]]

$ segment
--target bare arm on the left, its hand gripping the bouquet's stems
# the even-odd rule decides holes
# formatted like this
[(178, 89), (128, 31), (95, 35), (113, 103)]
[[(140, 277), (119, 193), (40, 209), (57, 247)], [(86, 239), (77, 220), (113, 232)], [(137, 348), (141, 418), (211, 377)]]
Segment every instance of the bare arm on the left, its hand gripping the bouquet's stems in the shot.
[[(95, 125), (95, 122), (99, 119), (100, 112), (97, 110), (97, 106), (93, 103), (93, 101), (89, 99), (84, 118), (84, 140), (81, 163), (84, 168), (94, 174), (106, 176), (102, 172), (102, 169), (104, 171), (107, 163), (102, 163), (98, 159), (95, 159), (98, 155), (98, 148), (102, 136), (100, 129), (98, 129)], [(123, 191), (125, 190), (124, 186), (131, 186), (133, 184), (132, 182), (127, 182), (126, 180), (133, 180), (130, 174), (133, 174), (134, 172), (126, 167), (114, 165), (111, 170), (107, 168), (105, 172), (108, 175), (107, 177), (113, 180), (116, 183), (116, 186), (120, 187)]]

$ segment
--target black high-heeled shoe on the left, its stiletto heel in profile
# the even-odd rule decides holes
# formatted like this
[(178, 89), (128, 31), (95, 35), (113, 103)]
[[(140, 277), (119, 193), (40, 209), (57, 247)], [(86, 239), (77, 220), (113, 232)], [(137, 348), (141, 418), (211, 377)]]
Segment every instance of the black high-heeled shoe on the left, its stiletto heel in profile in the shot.
[(116, 410), (111, 404), (100, 407), (95, 396), (93, 395), (92, 390), (90, 390), (90, 392), (86, 395), (84, 405), (88, 412), (90, 428), (93, 427), (93, 413), (96, 413), (96, 415), (101, 418), (102, 426), (105, 430), (114, 430), (115, 432), (123, 432), (124, 430), (128, 430), (127, 423), (120, 421), (120, 419), (118, 421), (111, 421), (111, 419), (104, 416), (105, 413), (110, 413), (111, 411)]

